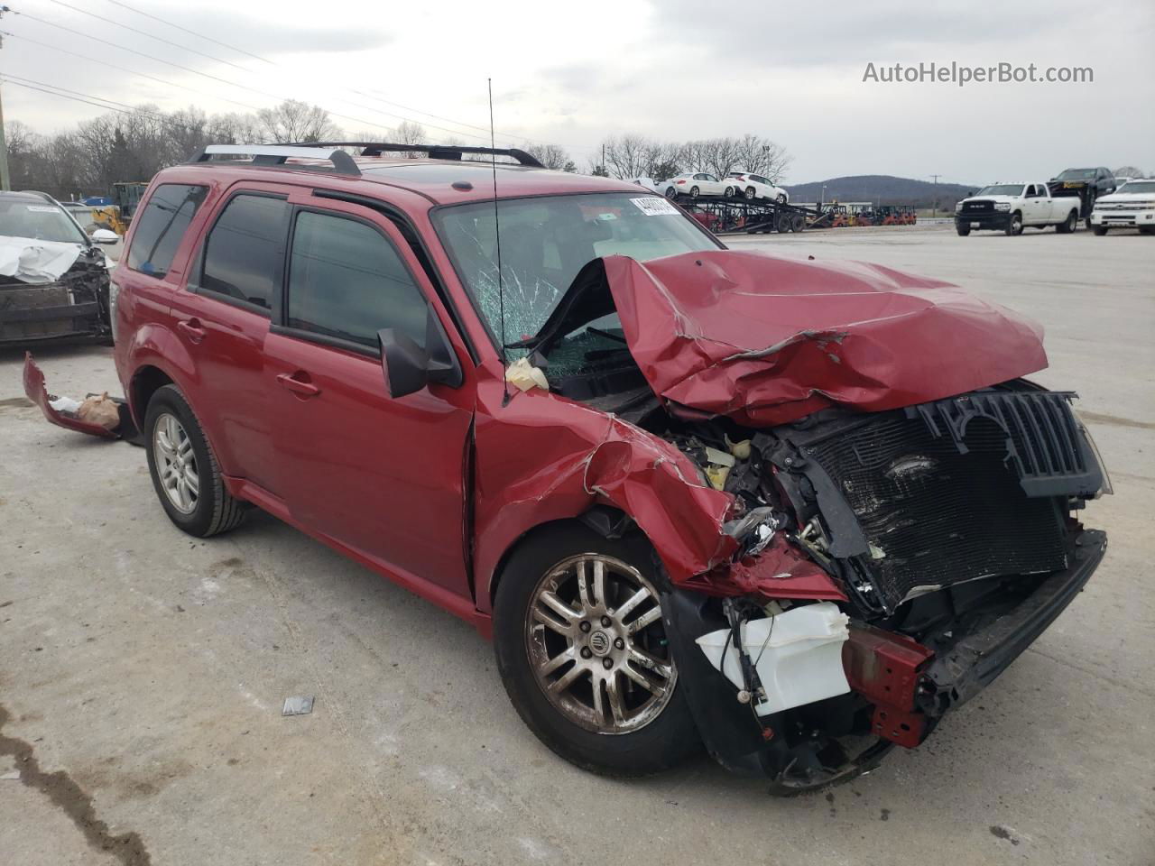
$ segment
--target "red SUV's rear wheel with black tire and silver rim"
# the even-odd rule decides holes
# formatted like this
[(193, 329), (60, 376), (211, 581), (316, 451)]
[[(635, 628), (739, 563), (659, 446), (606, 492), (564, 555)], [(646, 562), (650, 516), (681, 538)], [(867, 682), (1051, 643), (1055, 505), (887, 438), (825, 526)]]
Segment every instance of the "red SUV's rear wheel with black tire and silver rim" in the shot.
[(208, 538), (240, 524), (244, 503), (225, 490), (213, 447), (177, 386), (157, 389), (149, 401), (144, 442), (152, 487), (179, 529)]

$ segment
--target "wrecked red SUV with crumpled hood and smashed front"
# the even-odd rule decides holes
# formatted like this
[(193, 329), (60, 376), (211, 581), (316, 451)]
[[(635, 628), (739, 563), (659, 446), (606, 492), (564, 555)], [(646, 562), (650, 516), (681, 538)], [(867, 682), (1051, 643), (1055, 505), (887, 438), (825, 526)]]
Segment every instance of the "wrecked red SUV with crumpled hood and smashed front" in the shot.
[(1102, 559), (1073, 515), (1105, 475), (1009, 311), (728, 251), (516, 150), (349, 147), (152, 180), (111, 301), (157, 495), (199, 537), (259, 507), (492, 634), (564, 757), (849, 777)]

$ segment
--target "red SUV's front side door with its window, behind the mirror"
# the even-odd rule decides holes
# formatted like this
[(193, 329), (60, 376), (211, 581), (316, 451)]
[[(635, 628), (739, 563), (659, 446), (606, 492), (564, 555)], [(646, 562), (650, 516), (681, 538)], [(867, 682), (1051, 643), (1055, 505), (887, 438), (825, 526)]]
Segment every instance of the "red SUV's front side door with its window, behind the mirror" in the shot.
[(382, 215), (295, 201), (283, 318), (264, 350), (277, 490), (306, 529), (468, 596), (470, 372), (461, 388), (392, 398), (377, 333), (395, 328), (424, 344), (434, 297), (425, 274)]

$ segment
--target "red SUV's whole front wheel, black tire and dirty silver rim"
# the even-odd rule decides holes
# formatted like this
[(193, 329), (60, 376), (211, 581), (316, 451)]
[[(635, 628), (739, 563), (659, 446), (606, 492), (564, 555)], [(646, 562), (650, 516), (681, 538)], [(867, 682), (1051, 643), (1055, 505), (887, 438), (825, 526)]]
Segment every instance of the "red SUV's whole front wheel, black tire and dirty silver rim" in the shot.
[(514, 551), (498, 583), (493, 648), (509, 700), (542, 742), (595, 772), (661, 772), (701, 748), (654, 562), (640, 533), (554, 524)]

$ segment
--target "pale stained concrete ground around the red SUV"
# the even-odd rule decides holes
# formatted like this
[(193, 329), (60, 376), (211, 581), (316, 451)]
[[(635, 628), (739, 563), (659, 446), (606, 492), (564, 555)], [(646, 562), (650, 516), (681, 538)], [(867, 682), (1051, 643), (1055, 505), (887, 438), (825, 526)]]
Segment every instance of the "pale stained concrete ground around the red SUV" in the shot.
[[(944, 227), (738, 238), (875, 261), (1040, 319), (1116, 495), (1074, 605), (921, 748), (770, 799), (708, 760), (582, 772), (470, 627), (266, 516), (209, 542), (144, 454), (44, 423), (0, 352), (0, 863), (1120, 864), (1155, 851), (1155, 238)], [(37, 352), (58, 394), (110, 352)], [(290, 695), (312, 715), (283, 718)]]

